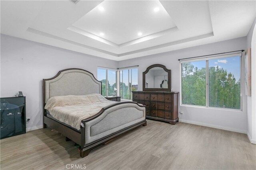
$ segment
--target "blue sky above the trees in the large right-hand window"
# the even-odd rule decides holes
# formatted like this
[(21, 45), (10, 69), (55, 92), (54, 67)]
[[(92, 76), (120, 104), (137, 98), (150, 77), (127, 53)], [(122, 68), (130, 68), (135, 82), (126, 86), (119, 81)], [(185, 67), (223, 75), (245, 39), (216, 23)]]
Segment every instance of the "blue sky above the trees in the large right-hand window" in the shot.
[[(205, 67), (205, 63), (205, 61), (192, 62), (194, 67), (198, 67), (198, 69)], [(228, 73), (231, 72), (231, 74), (234, 74), (236, 81), (240, 79), (240, 56), (209, 60), (209, 67), (215, 66), (219, 66), (227, 70)]]

